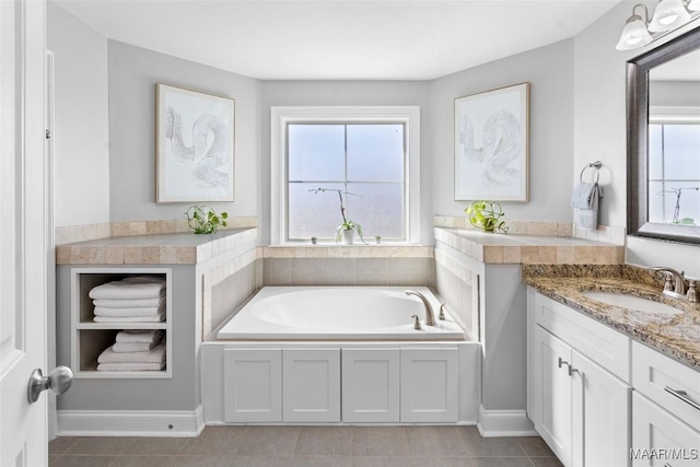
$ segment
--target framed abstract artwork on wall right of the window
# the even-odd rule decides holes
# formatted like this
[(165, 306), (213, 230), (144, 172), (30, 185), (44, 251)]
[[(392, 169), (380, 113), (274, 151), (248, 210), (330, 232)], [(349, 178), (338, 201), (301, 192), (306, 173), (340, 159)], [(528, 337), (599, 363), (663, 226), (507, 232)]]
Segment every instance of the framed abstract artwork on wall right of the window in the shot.
[(528, 201), (529, 82), (455, 98), (455, 200)]

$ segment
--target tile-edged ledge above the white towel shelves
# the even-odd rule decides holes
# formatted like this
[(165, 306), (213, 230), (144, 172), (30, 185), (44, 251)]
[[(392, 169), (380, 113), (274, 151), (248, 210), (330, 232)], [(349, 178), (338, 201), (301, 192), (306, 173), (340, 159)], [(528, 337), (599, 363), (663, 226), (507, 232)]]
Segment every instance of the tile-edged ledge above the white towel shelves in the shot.
[(109, 236), (56, 246), (57, 265), (195, 265), (256, 242), (258, 229)]

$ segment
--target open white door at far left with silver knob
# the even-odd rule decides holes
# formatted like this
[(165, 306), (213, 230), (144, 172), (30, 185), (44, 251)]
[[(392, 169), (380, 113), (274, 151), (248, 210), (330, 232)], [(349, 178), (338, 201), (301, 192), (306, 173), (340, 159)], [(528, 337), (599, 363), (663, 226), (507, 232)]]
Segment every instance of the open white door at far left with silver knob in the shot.
[(0, 465), (43, 466), (46, 395), (46, 165), (44, 1), (0, 1)]

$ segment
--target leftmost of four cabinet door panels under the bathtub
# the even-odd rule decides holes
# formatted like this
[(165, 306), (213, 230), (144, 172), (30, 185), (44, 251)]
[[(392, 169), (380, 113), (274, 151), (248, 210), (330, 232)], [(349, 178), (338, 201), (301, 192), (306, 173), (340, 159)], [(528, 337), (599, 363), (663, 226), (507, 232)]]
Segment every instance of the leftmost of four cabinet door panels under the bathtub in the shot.
[(282, 420), (281, 349), (225, 349), (224, 421)]

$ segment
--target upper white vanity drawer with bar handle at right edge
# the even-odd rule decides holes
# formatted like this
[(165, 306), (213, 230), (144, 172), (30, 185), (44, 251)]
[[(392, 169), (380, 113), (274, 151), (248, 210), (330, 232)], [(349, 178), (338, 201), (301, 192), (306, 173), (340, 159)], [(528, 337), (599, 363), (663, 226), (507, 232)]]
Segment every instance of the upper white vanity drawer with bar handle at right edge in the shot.
[(632, 383), (635, 390), (700, 431), (700, 372), (633, 342)]

